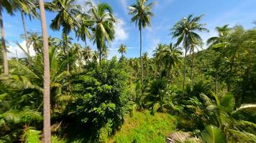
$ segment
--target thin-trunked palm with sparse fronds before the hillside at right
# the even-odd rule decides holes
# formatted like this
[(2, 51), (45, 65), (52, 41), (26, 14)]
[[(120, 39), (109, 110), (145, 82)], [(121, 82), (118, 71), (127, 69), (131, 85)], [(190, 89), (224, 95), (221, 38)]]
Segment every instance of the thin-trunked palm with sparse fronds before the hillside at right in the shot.
[[(226, 24), (224, 26), (216, 26), (216, 31), (218, 32), (218, 36), (212, 36), (211, 38), (207, 39), (207, 44), (209, 47), (219, 48), (219, 44), (221, 44), (224, 41), (224, 38), (229, 34), (230, 28), (229, 25)], [(217, 51), (218, 49), (216, 49)], [(216, 64), (215, 66), (215, 94), (218, 94), (218, 69), (219, 69), (219, 58), (216, 58)]]

